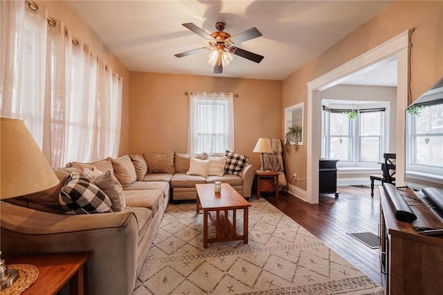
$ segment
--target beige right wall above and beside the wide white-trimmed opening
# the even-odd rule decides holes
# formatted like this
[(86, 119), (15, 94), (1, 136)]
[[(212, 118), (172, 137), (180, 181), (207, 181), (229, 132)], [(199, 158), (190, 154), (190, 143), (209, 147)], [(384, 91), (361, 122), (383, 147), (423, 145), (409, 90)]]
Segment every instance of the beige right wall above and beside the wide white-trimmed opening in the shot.
[[(285, 79), (282, 89), (282, 108), (302, 101), (307, 105), (307, 82), (388, 41), (408, 28), (415, 28), (410, 55), (410, 88), (412, 100), (417, 99), (443, 76), (443, 1), (395, 2), (359, 30)], [(306, 114), (305, 108), (305, 126), (307, 126)], [(303, 135), (305, 138), (307, 132), (309, 130), (305, 128)], [(305, 144), (300, 146), (297, 152), (286, 154), (287, 175), (297, 172), (298, 178), (306, 179), (307, 149), (309, 146)], [(305, 181), (298, 181), (295, 185), (306, 190)]]

